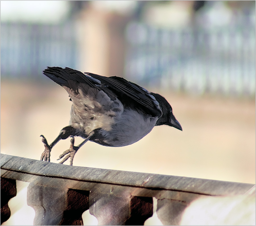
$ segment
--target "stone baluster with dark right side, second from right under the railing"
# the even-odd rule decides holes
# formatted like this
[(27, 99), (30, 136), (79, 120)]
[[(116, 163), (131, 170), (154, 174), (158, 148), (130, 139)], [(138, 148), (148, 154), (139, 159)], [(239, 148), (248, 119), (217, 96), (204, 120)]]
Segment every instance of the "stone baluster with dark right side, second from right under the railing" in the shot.
[(116, 196), (91, 191), (90, 214), (98, 225), (144, 225), (153, 215), (152, 197)]

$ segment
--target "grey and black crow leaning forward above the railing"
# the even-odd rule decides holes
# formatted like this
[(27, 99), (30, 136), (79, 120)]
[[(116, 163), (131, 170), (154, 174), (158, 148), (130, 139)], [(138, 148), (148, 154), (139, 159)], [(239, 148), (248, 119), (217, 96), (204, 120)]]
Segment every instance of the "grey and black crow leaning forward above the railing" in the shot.
[[(69, 67), (47, 67), (43, 74), (62, 86), (72, 101), (69, 125), (48, 144), (44, 135), (44, 152), (40, 160), (50, 161), (53, 146), (71, 138), (70, 148), (57, 160), (63, 164), (87, 141), (103, 146), (121, 147), (133, 144), (146, 136), (154, 126), (168, 125), (182, 131), (172, 106), (158, 93), (117, 76), (82, 73)], [(84, 140), (75, 146), (75, 136)]]

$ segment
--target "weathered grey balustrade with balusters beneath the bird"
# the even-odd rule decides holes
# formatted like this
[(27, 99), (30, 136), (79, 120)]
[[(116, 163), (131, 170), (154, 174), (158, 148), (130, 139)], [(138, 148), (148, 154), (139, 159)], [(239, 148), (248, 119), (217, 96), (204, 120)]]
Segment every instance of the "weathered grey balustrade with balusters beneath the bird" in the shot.
[(8, 201), (16, 180), (30, 182), (27, 204), (34, 225), (82, 225), (89, 209), (98, 225), (143, 225), (153, 214), (164, 225), (179, 224), (199, 197), (241, 195), (253, 184), (61, 165), (1, 154), (1, 223), (10, 217)]

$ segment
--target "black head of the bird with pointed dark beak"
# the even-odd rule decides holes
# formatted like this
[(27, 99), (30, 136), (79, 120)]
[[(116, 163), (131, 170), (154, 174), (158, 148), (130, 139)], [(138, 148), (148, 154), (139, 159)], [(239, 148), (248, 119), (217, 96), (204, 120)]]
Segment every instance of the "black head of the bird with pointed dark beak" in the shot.
[(172, 106), (168, 103), (168, 101), (158, 93), (151, 94), (156, 98), (163, 112), (162, 116), (157, 120), (156, 125), (170, 125), (182, 131), (182, 127), (179, 121), (173, 115)]

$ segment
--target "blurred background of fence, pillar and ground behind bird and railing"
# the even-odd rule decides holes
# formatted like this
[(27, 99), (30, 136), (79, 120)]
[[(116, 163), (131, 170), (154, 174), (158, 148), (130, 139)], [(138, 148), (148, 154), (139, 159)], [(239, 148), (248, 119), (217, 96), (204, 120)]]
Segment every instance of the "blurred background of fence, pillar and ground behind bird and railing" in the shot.
[[(52, 142), (68, 125), (68, 94), (42, 71), (71, 67), (162, 94), (183, 127), (155, 127), (120, 148), (87, 142), (73, 165), (255, 184), (255, 1), (0, 4), (1, 153), (40, 159), (39, 136)], [(17, 184), (5, 225), (33, 224), (26, 186)], [(97, 224), (86, 212), (84, 223)]]

